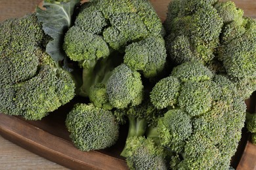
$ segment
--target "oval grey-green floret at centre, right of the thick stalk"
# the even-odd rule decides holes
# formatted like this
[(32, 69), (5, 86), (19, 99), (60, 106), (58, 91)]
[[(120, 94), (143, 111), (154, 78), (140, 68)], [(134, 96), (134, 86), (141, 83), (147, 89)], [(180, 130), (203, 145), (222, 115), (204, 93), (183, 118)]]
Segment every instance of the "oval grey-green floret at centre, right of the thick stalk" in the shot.
[(123, 109), (129, 104), (139, 105), (142, 101), (142, 80), (140, 73), (127, 65), (116, 67), (106, 83), (108, 100), (113, 107)]

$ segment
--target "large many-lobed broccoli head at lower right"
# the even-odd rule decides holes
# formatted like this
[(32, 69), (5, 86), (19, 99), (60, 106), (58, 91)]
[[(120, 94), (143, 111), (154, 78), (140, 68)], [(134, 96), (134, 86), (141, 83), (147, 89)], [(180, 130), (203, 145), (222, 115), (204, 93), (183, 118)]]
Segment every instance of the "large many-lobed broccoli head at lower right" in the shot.
[(150, 100), (169, 110), (147, 136), (171, 149), (172, 169), (229, 167), (245, 121), (244, 98), (237, 92), (226, 76), (213, 75), (194, 61), (178, 65), (156, 83)]

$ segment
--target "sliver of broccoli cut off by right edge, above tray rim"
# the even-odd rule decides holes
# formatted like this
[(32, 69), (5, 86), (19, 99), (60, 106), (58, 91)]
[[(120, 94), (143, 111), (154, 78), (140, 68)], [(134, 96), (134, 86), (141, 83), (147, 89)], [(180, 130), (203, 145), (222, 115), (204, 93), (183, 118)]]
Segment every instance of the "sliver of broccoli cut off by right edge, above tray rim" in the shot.
[(246, 113), (246, 127), (251, 132), (251, 143), (256, 144), (256, 114)]

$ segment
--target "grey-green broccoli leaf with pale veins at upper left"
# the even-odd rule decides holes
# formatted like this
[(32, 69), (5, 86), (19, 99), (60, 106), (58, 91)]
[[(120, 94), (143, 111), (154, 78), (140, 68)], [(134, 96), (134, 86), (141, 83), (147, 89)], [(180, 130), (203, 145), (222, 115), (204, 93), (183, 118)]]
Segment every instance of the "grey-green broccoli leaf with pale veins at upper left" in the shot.
[(72, 26), (74, 8), (80, 0), (73, 1), (47, 1), (43, 2), (43, 8), (37, 7), (36, 13), (39, 22), (43, 24), (45, 33), (53, 38), (47, 44), (46, 52), (54, 61), (62, 61), (66, 54), (62, 49), (64, 34)]

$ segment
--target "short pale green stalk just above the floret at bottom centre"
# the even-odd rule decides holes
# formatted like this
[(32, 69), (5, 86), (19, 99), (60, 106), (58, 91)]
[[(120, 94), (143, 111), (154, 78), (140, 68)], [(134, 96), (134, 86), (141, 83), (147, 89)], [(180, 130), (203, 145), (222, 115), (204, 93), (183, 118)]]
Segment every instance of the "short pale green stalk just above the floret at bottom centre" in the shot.
[[(135, 118), (135, 116), (131, 116), (131, 115), (128, 115), (127, 117), (129, 120), (129, 130), (128, 130), (126, 141), (130, 137), (143, 136), (146, 131), (148, 121), (146, 119)], [(123, 148), (123, 151), (121, 152), (120, 155), (126, 158), (128, 155), (127, 152), (128, 152), (127, 144), (125, 143), (125, 147)]]

